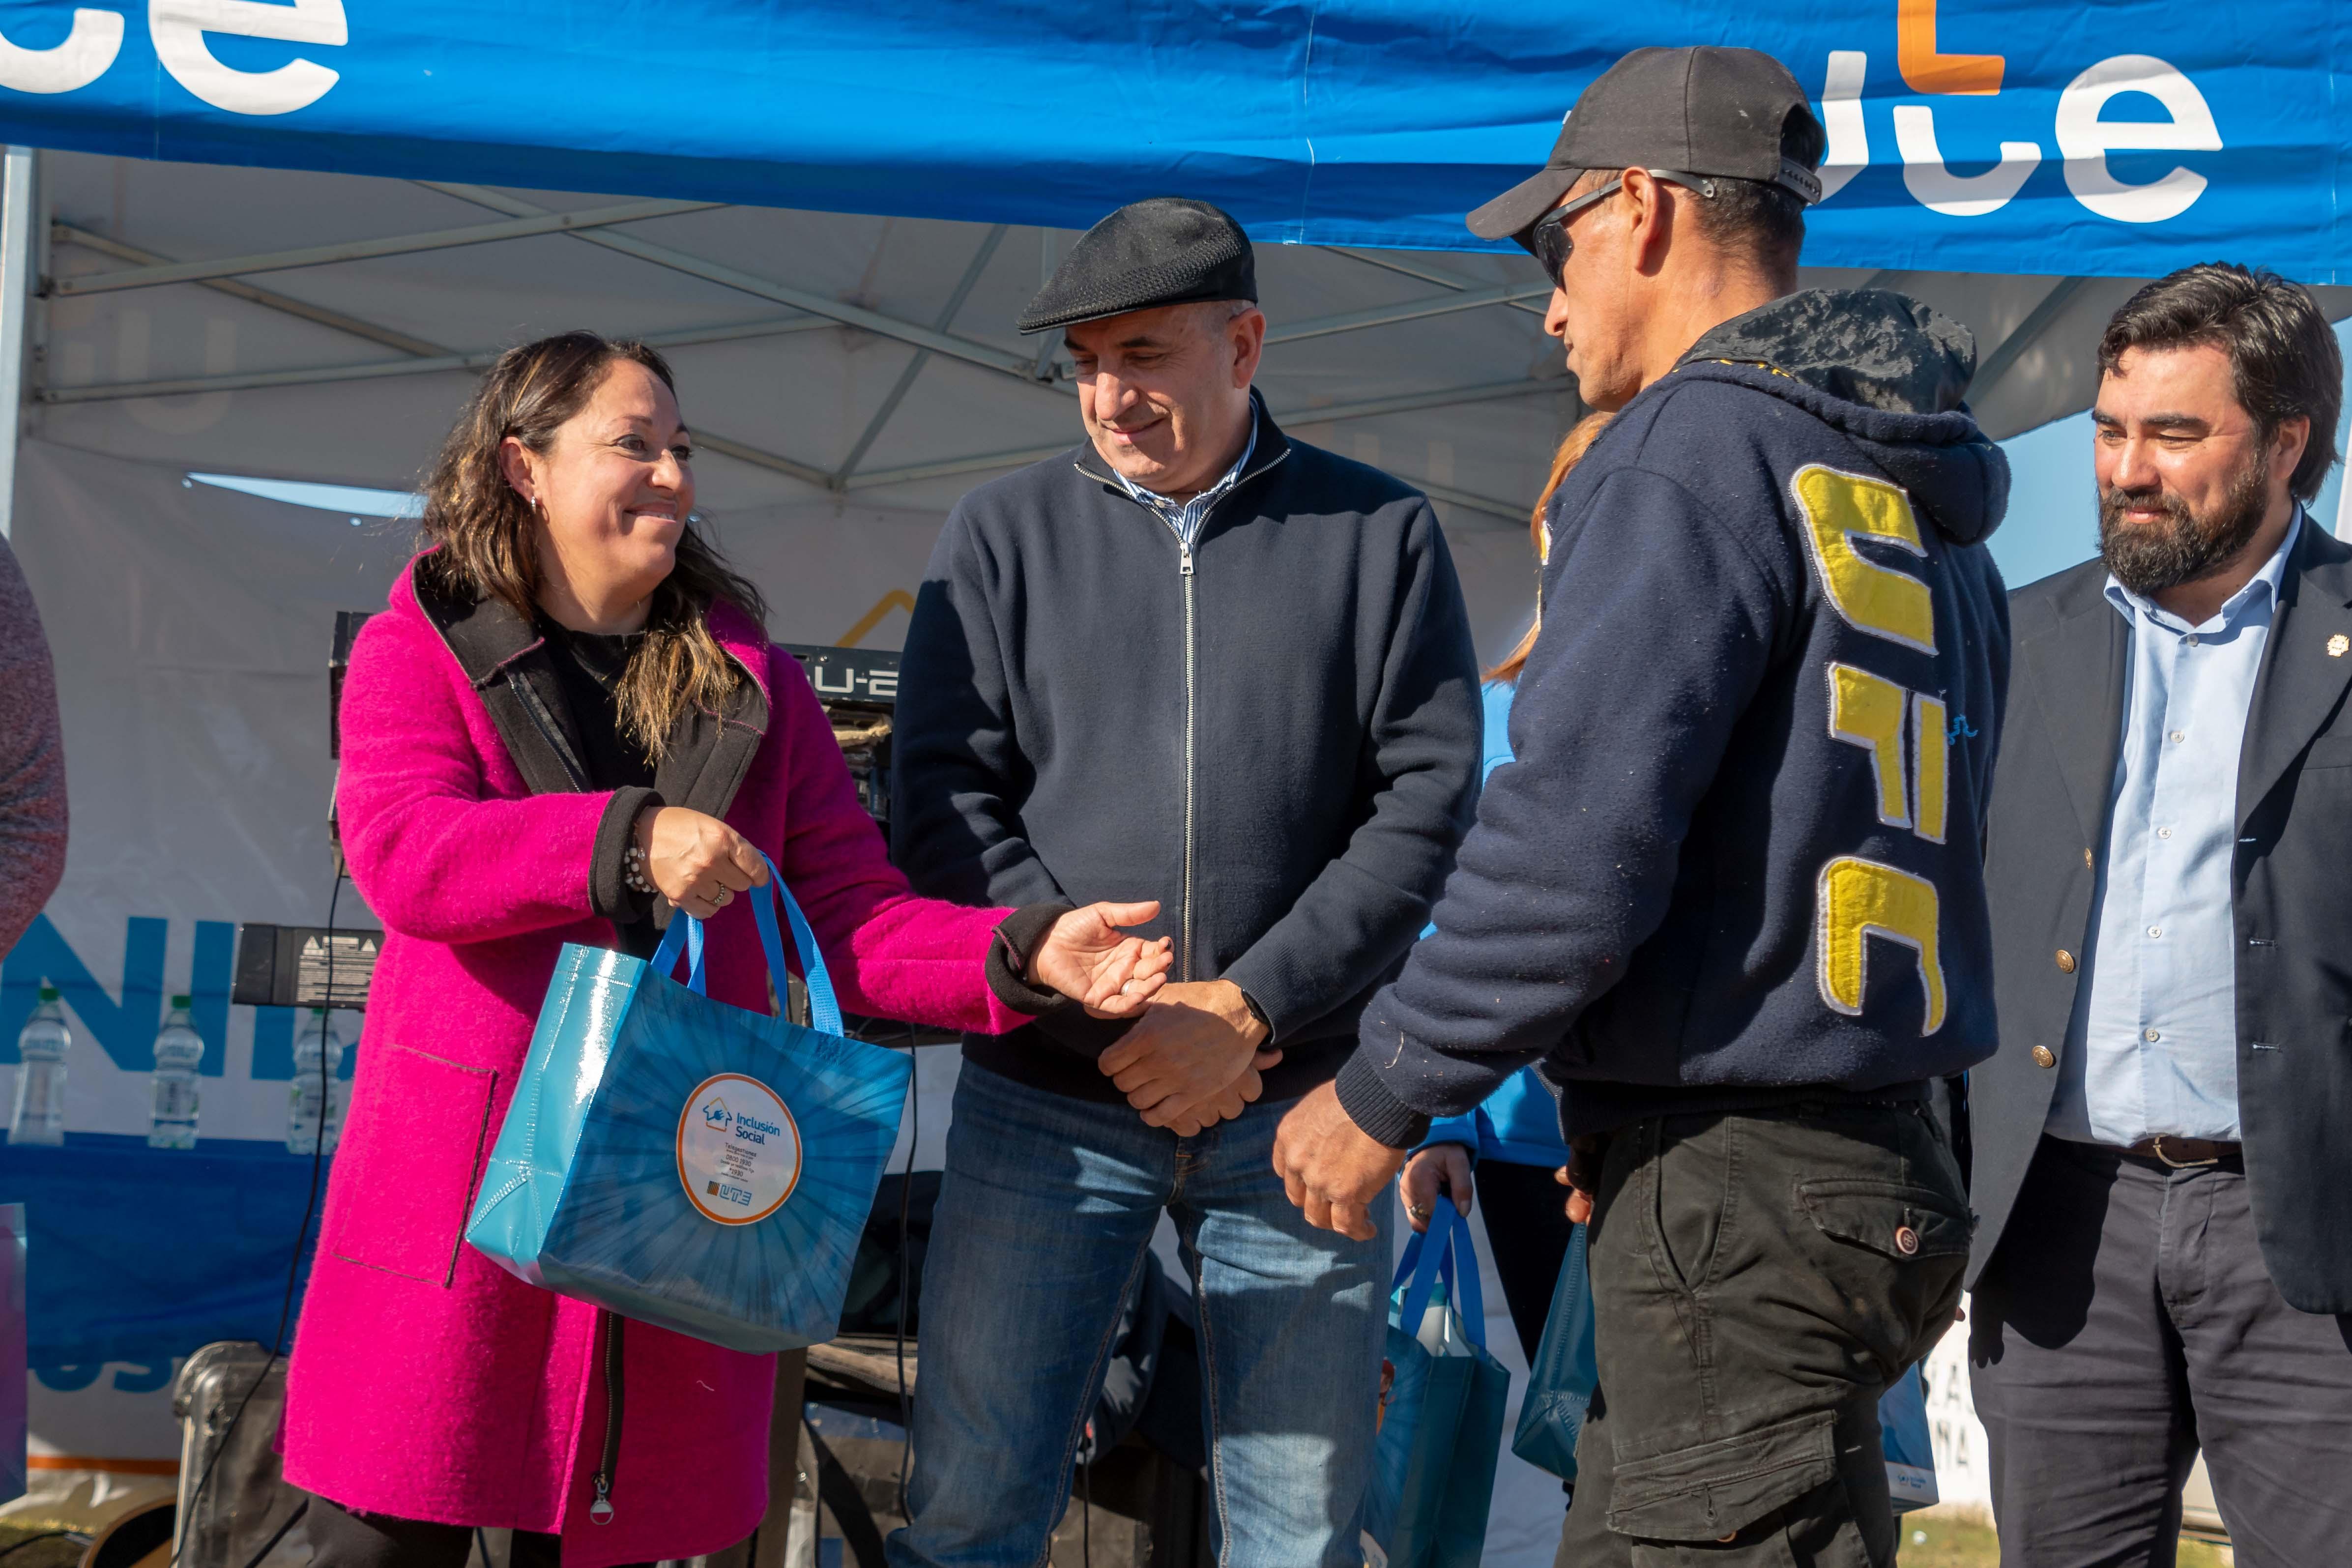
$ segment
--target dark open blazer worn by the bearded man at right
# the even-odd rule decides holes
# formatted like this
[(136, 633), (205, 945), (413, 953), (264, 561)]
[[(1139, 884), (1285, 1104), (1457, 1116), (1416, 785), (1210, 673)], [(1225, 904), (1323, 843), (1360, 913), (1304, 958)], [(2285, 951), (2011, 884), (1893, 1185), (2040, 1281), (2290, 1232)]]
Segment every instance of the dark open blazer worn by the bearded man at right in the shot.
[[(2009, 595), (2013, 665), (1985, 882), (2002, 1048), (1969, 1074), (1969, 1284), (2018, 1204), (2058, 1084), (2105, 853), (2129, 628), (2086, 562)], [(2352, 548), (2312, 517), (2237, 764), (2237, 1095), (2263, 1262), (2352, 1312)], [(2034, 1051), (2049, 1053), (2044, 1065)]]

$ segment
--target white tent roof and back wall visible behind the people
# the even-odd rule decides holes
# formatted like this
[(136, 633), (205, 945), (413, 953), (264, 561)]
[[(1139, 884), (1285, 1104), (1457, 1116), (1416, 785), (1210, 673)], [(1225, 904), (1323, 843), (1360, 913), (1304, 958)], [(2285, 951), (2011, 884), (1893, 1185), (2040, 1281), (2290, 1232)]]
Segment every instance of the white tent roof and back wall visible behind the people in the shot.
[[(202, 990), (207, 924), (327, 917), (332, 616), (381, 607), (409, 524), (188, 475), (407, 491), (503, 346), (564, 327), (633, 334), (677, 367), (701, 510), (769, 592), (771, 632), (896, 646), (955, 498), (1080, 437), (1058, 339), (1011, 331), (1070, 240), (12, 150), (0, 364), (21, 360), (24, 381), (0, 496), (66, 705), (75, 839), (54, 940), (103, 992), (120, 973), (129, 1013), (141, 919), (169, 922), (169, 992)], [(1263, 244), (1258, 277), (1275, 416), (1437, 501), (1479, 651), (1501, 654), (1531, 607), (1526, 508), (1578, 414), (1534, 266)], [(1973, 402), (2002, 437), (2089, 404), (2091, 343), (2136, 287), (1870, 270), (1806, 282), (1893, 287), (1969, 322)], [(2352, 310), (2352, 292), (2324, 294), (2331, 315)], [(285, 1074), (247, 1009), (223, 1018), (205, 1135), (270, 1138)], [(936, 1164), (948, 1070), (924, 1072), (920, 1164)], [(139, 1133), (143, 1091), (141, 1072), (80, 1051), (68, 1124)], [(1508, 1347), (1501, 1324), (1496, 1338)], [(125, 1387), (35, 1385), (35, 1448), (172, 1453), (158, 1394)], [(1548, 1561), (1548, 1509), (1557, 1490), (1505, 1460), (1491, 1561)]]

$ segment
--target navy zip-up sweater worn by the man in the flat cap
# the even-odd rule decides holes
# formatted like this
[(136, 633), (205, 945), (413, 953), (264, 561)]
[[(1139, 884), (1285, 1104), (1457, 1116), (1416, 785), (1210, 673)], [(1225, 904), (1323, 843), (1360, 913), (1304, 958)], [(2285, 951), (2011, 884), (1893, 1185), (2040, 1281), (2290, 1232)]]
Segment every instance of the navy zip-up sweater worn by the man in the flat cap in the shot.
[[(908, 628), (891, 835), (957, 903), (1160, 900), (1171, 978), (1225, 978), (1327, 1081), (1470, 825), (1477, 656), (1430, 503), (1265, 409), (1188, 555), (1091, 447), (978, 487)], [(1124, 1025), (1075, 1006), (964, 1056), (1089, 1100)]]

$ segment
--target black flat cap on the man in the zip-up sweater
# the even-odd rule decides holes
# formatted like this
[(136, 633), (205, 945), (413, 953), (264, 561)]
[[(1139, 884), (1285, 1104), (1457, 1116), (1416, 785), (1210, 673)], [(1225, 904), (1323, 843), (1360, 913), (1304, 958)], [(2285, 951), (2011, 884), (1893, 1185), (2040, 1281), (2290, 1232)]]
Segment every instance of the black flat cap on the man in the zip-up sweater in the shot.
[(1021, 331), (1051, 331), (1197, 299), (1258, 303), (1256, 252), (1242, 226), (1209, 202), (1155, 195), (1120, 207), (1080, 235), (1021, 313)]

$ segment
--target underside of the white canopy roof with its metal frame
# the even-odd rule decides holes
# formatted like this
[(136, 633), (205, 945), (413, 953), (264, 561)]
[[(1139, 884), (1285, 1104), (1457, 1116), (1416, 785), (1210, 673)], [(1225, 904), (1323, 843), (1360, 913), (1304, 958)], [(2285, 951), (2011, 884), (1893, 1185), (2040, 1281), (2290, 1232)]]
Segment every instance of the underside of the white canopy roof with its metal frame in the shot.
[[(24, 322), (31, 440), (405, 489), (470, 371), (574, 324), (673, 353), (720, 520), (941, 515), (1075, 440), (1058, 343), (1011, 331), (1068, 244), (1058, 230), (80, 153), (9, 169), (21, 244), (0, 244), (0, 268), (21, 256), (42, 292)], [(2133, 287), (1856, 268), (1806, 282), (1893, 287), (1969, 322), (1973, 404), (1997, 437), (2089, 402), (2089, 346)], [(1524, 517), (1576, 409), (1526, 261), (1261, 247), (1261, 287), (1263, 388), (1294, 433), (1376, 454), (1458, 541)], [(2352, 310), (2352, 292), (2328, 294)]]

